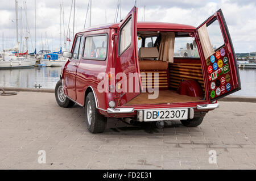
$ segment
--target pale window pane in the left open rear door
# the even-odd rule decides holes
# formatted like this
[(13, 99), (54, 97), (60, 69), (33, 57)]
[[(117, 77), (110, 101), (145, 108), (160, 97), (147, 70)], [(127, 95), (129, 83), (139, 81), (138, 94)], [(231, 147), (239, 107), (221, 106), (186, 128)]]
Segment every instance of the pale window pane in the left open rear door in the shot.
[(131, 44), (131, 18), (125, 26), (121, 27), (119, 38), (119, 54), (121, 54)]

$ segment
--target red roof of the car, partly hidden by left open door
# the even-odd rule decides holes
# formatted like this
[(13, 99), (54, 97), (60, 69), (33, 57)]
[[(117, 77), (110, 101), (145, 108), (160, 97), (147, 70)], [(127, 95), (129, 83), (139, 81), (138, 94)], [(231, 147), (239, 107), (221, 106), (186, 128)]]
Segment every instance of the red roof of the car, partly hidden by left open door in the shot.
[[(118, 28), (118, 25), (119, 23), (101, 24), (98, 26), (86, 28), (80, 32), (103, 30), (108, 28)], [(196, 30), (195, 27), (185, 25), (185, 24), (163, 23), (163, 22), (138, 22), (137, 28), (138, 29)]]

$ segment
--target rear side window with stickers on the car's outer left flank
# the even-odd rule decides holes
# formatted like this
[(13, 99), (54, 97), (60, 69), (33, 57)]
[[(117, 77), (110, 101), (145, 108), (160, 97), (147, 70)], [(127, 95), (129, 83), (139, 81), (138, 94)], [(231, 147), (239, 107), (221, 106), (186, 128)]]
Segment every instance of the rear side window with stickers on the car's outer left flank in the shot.
[(85, 59), (105, 60), (108, 48), (108, 36), (97, 35), (85, 37), (84, 55)]

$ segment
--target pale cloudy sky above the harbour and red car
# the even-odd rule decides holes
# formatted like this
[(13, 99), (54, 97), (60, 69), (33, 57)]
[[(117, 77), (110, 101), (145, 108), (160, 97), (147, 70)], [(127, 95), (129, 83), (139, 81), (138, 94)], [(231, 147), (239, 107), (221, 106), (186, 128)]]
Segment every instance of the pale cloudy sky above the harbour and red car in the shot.
[[(75, 0), (73, 0), (75, 1)], [(76, 0), (75, 33), (84, 27), (89, 0)], [(113, 23), (118, 0), (92, 0), (92, 26)], [(60, 4), (63, 3), (64, 27), (67, 34), (72, 0), (18, 0), (19, 41), (23, 40), (26, 50), (26, 30), (28, 50), (35, 48), (35, 7), (36, 7), (36, 48), (37, 50), (60, 47)], [(138, 21), (143, 21), (144, 7), (146, 22), (170, 22), (199, 26), (218, 9), (222, 9), (236, 53), (256, 52), (256, 1), (255, 0), (137, 0)], [(24, 5), (27, 5), (27, 20)], [(135, 1), (121, 0), (121, 19), (133, 8)], [(22, 8), (22, 10), (21, 10)], [(15, 0), (0, 1), (0, 51), (16, 44)], [(120, 20), (118, 15), (118, 21)], [(63, 22), (61, 22), (61, 42), (64, 42)], [(26, 26), (28, 28), (26, 28)], [(88, 20), (86, 27), (89, 26)], [(73, 9), (71, 15), (72, 39)], [(3, 36), (3, 39), (2, 39)], [(69, 36), (68, 36), (69, 37)], [(42, 46), (43, 44), (43, 46)], [(69, 44), (67, 47), (69, 48)]]

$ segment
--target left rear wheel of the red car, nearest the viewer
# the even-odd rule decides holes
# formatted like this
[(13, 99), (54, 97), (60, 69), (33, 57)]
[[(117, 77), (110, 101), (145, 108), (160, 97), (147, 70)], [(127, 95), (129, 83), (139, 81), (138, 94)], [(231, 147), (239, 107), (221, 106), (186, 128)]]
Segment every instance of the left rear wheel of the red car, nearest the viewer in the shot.
[(93, 92), (89, 92), (85, 100), (85, 121), (87, 129), (91, 133), (102, 133), (106, 127), (105, 116), (100, 115), (96, 108)]

